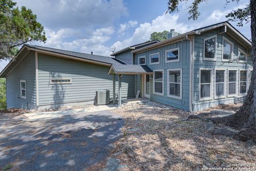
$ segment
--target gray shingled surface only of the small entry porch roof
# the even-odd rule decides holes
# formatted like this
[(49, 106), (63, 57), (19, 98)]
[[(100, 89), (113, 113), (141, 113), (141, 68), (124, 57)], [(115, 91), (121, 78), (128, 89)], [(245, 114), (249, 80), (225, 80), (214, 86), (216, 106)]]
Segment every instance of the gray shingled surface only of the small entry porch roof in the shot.
[(146, 65), (138, 65), (138, 64), (126, 64), (125, 66), (121, 65), (112, 65), (114, 70), (118, 72), (140, 72), (140, 73), (148, 73), (153, 72)]

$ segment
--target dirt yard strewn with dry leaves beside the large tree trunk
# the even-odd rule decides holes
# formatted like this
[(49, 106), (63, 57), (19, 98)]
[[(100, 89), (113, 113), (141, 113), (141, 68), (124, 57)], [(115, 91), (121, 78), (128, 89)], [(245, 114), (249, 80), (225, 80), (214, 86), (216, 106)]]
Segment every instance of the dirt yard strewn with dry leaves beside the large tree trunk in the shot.
[[(236, 111), (239, 106), (220, 105), (203, 112)], [(256, 170), (255, 144), (213, 136), (204, 121), (184, 121), (189, 112), (154, 102), (127, 105), (114, 112), (125, 119), (124, 137), (113, 151), (113, 158), (125, 166), (119, 170), (238, 168), (234, 164), (252, 164), (248, 168)]]

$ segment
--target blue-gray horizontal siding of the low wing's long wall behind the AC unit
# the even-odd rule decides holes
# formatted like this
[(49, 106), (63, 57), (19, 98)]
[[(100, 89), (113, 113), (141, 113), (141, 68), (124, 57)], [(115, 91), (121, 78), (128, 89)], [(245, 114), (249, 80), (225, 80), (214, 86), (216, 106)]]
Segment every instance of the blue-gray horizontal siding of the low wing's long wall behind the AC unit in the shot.
[[(97, 89), (110, 89), (113, 94), (113, 76), (109, 67), (63, 59), (38, 53), (39, 105), (94, 101)], [(71, 84), (50, 84), (51, 78), (71, 78)], [(122, 79), (122, 97), (134, 97), (134, 76)], [(116, 91), (118, 78), (116, 77)]]

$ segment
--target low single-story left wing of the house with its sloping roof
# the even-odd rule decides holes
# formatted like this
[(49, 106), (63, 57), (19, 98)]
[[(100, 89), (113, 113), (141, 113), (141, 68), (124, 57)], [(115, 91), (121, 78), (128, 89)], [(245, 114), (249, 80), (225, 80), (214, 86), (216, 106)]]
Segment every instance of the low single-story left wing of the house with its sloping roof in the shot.
[[(110, 89), (113, 97), (113, 79), (118, 82), (108, 70), (112, 64), (125, 64), (106, 56), (34, 45), (24, 45), (16, 56), (0, 74), (6, 78), (7, 108), (92, 104), (97, 89)], [(134, 98), (134, 94), (134, 76), (124, 76), (122, 98)]]

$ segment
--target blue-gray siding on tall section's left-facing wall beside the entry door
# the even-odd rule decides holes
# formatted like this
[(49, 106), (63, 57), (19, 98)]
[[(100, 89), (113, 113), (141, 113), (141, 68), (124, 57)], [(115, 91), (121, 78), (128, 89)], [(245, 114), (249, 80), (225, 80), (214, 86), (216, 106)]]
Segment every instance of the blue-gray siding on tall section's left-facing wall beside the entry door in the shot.
[[(165, 63), (165, 51), (172, 48), (180, 48), (180, 61)], [(153, 53), (160, 53), (159, 64), (150, 64), (149, 55)], [(189, 110), (189, 64), (190, 64), (190, 43), (189, 40), (183, 40), (177, 43), (166, 45), (163, 47), (155, 48), (146, 52), (136, 54), (135, 62), (138, 64), (138, 58), (146, 55), (146, 64), (151, 70), (164, 70), (164, 95), (153, 93), (153, 79), (150, 83), (150, 99), (152, 101), (160, 102), (163, 104), (171, 105), (176, 108)], [(182, 99), (174, 99), (167, 96), (167, 69), (182, 68)], [(137, 76), (136, 89), (141, 89), (141, 78)]]

